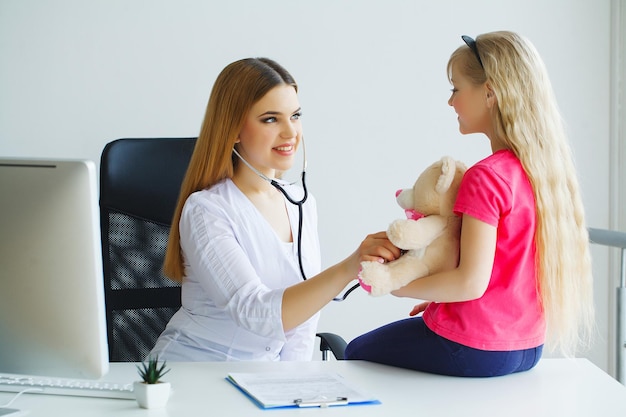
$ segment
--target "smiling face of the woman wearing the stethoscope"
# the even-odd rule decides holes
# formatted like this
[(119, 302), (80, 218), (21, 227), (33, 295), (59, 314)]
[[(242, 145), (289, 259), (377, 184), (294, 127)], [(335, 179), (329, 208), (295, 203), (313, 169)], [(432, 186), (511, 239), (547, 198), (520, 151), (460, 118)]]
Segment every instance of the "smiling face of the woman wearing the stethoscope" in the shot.
[(295, 88), (274, 87), (248, 112), (237, 138), (237, 151), (270, 178), (276, 171), (287, 171), (302, 139), (300, 115)]

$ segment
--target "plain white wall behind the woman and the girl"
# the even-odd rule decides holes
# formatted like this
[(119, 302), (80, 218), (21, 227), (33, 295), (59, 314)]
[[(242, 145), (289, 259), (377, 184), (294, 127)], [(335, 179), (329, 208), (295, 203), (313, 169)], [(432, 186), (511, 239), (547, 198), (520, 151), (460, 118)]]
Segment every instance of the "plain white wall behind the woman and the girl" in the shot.
[[(609, 222), (609, 0), (0, 0), (0, 155), (99, 160), (120, 137), (197, 135), (229, 62), (269, 56), (300, 84), (308, 179), (330, 265), (402, 217), (396, 189), (442, 155), (472, 164), (487, 139), (457, 130), (445, 65), (460, 35), (529, 37), (552, 76), (591, 226)], [(610, 369), (606, 251), (594, 249)], [(325, 309), (347, 339), (414, 303), (356, 292)]]

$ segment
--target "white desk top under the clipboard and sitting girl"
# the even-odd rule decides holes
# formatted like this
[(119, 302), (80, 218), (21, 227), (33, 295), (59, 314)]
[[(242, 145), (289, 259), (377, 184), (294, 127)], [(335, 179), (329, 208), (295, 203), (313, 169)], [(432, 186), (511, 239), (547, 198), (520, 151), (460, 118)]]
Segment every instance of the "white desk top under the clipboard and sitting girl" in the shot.
[[(470, 379), (429, 375), (367, 362), (169, 363), (167, 407), (131, 400), (25, 394), (12, 405), (28, 416), (626, 416), (626, 387), (586, 359), (542, 359), (529, 372)], [(261, 410), (230, 383), (229, 372), (310, 369), (339, 372), (382, 404), (327, 409)], [(134, 381), (132, 363), (111, 364), (105, 380)], [(0, 403), (13, 394), (0, 393)]]

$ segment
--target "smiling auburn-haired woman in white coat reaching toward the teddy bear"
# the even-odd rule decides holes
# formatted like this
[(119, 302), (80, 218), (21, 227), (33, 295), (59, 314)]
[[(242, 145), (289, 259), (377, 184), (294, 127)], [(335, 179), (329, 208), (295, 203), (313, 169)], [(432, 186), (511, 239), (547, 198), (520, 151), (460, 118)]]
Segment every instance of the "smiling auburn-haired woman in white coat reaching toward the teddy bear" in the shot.
[[(218, 76), (165, 258), (165, 273), (182, 281), (182, 307), (151, 355), (310, 360), (318, 312), (356, 278), (359, 262), (398, 256), (381, 232), (320, 272), (315, 199), (309, 195), (299, 213), (268, 181), (293, 164), (300, 116), (297, 85), (272, 60), (236, 61)], [(296, 199), (303, 194), (296, 185), (284, 188)]]

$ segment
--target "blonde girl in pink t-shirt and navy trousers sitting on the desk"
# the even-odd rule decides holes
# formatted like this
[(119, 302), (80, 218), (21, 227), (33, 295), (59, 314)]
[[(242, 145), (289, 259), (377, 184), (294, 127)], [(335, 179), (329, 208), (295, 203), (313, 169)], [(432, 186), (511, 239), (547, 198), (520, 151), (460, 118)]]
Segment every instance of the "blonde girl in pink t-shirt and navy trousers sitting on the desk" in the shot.
[(571, 355), (590, 342), (592, 276), (570, 148), (544, 64), (511, 32), (464, 36), (448, 62), (462, 134), (492, 155), (465, 174), (456, 269), (394, 292), (430, 300), (353, 340), (348, 359), (486, 377), (531, 369), (544, 342)]

